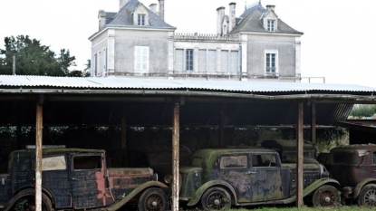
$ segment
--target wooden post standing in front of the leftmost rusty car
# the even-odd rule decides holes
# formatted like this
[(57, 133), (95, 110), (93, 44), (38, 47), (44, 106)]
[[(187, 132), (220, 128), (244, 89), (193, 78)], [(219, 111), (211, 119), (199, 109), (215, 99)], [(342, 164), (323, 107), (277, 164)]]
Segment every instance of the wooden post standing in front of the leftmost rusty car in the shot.
[(42, 211), (43, 95), (36, 102), (35, 122), (35, 211)]

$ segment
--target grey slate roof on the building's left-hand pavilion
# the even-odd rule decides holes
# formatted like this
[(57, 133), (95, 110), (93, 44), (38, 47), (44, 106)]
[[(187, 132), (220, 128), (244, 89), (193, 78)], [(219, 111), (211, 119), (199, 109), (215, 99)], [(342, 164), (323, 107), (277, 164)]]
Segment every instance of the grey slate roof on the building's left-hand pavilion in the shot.
[(138, 0), (130, 0), (126, 5), (123, 5), (118, 13), (106, 13), (106, 25), (108, 26), (132, 26), (132, 27), (152, 27), (152, 28), (171, 28), (175, 27), (164, 22), (159, 15), (153, 13), (147, 6), (149, 11), (149, 25), (138, 26), (133, 24), (132, 13), (138, 5), (143, 5)]

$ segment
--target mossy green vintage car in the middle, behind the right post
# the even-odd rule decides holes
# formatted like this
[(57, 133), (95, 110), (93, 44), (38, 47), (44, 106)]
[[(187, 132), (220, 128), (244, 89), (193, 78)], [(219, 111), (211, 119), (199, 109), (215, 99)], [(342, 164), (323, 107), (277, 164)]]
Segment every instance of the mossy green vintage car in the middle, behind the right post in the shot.
[[(308, 169), (309, 168), (309, 169)], [(319, 163), (304, 165), (304, 199), (313, 206), (339, 203), (339, 183)], [(295, 164), (283, 164), (275, 150), (199, 149), (191, 167), (179, 169), (179, 200), (206, 210), (230, 206), (289, 204), (296, 199)]]

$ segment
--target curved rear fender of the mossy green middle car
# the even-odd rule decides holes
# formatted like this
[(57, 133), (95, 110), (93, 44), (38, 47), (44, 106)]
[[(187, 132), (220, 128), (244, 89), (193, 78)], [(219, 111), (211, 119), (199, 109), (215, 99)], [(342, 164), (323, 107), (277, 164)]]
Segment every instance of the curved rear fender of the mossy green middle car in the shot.
[(234, 187), (232, 187), (227, 181), (224, 180), (211, 180), (208, 181), (207, 183), (203, 184), (202, 186), (198, 187), (196, 190), (195, 194), (193, 197), (189, 200), (188, 206), (194, 206), (198, 203), (199, 199), (202, 197), (204, 192), (209, 188), (209, 187), (227, 187), (231, 191), (231, 195), (234, 196), (235, 198), (235, 204), (237, 204), (237, 198), (236, 198), (236, 191)]

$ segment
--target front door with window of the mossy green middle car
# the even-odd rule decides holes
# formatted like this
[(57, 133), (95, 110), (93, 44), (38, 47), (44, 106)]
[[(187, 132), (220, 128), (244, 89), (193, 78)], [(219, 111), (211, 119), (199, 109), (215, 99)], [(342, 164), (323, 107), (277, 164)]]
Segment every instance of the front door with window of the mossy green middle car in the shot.
[(251, 153), (250, 201), (269, 201), (283, 197), (280, 162), (276, 153)]

